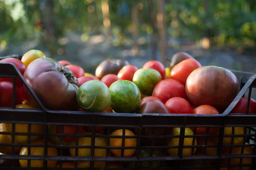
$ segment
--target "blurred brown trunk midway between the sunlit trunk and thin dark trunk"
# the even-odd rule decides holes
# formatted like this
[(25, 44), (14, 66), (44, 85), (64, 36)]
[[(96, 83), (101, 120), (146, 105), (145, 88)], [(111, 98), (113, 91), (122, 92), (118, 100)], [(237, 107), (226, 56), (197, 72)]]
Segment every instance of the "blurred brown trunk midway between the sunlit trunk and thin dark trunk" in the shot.
[(134, 44), (132, 46), (131, 52), (132, 56), (138, 56), (139, 55), (139, 47), (137, 45), (137, 40), (139, 36), (139, 18), (138, 18), (138, 8), (137, 8), (137, 1), (133, 1), (133, 6), (131, 9), (131, 20), (132, 20), (132, 35), (133, 35), (133, 41)]

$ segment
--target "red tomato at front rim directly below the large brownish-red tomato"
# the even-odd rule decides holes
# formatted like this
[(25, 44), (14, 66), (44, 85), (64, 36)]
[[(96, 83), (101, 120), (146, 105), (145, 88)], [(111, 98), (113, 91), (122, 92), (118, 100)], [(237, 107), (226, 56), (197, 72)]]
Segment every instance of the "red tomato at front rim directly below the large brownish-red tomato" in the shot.
[[(201, 105), (196, 107), (193, 110), (193, 114), (219, 114), (218, 110), (210, 105)], [(194, 131), (194, 127), (191, 127), (191, 129)], [(209, 128), (209, 134), (215, 134), (217, 131), (217, 127), (210, 127)], [(196, 128), (196, 134), (197, 135), (205, 135), (207, 132), (207, 127), (198, 127)]]

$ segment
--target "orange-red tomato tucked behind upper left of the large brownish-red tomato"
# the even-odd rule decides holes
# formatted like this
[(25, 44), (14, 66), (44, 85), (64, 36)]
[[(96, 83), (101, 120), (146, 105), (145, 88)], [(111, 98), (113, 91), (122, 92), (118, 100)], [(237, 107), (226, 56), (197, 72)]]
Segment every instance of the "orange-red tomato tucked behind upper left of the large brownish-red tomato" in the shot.
[(202, 65), (197, 60), (185, 59), (172, 68), (171, 78), (186, 85), (186, 79), (189, 77), (189, 74), (200, 67), (202, 67)]

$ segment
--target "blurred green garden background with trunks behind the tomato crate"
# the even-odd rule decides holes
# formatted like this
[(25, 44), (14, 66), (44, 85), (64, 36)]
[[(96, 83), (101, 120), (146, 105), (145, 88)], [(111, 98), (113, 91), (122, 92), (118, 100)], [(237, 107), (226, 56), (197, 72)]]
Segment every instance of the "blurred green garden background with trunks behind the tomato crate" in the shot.
[(0, 0), (0, 56), (38, 49), (95, 73), (107, 58), (142, 67), (185, 51), (256, 73), (256, 0)]

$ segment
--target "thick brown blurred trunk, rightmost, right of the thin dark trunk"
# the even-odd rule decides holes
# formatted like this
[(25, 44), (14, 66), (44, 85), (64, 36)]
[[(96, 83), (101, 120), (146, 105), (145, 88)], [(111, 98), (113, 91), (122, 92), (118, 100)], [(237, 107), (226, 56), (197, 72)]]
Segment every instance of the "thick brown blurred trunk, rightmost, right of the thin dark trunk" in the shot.
[(165, 0), (157, 0), (157, 28), (159, 33), (159, 48), (161, 53), (160, 61), (166, 62), (166, 20), (165, 20)]

